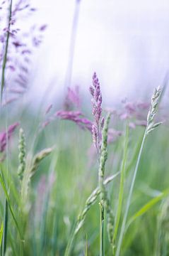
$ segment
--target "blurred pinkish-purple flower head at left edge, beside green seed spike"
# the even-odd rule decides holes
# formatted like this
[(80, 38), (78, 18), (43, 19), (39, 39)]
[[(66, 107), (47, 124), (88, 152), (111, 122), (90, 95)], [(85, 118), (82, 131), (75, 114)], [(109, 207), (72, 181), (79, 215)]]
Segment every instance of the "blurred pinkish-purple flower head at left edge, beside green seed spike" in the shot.
[(19, 123), (16, 122), (14, 124), (11, 124), (8, 127), (7, 132), (1, 132), (0, 133), (0, 152), (3, 153), (6, 149), (6, 144), (9, 139), (11, 139), (11, 136), (13, 135), (13, 132), (15, 131), (16, 127), (18, 127)]

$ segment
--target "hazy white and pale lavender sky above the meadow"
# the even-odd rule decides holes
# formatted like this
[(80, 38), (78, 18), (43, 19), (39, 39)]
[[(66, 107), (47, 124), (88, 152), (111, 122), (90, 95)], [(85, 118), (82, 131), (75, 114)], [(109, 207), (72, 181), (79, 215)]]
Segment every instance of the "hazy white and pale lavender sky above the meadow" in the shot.
[[(34, 0), (35, 23), (47, 23), (33, 59), (32, 90), (64, 89), (75, 0)], [(107, 102), (149, 97), (169, 70), (168, 0), (81, 0), (71, 85), (88, 92), (96, 71)]]

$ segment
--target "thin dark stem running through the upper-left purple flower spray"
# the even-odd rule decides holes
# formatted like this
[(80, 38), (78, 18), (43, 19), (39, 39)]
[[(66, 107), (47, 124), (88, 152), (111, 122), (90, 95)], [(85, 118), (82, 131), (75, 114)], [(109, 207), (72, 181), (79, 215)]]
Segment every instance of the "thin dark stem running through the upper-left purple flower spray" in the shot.
[(11, 27), (11, 14), (12, 14), (12, 0), (10, 1), (10, 4), (9, 4), (8, 31), (6, 31), (6, 43), (4, 47), (4, 58), (3, 58), (2, 72), (1, 72), (1, 101), (2, 101), (4, 85), (5, 85), (6, 60), (8, 55), (8, 43), (9, 43), (9, 35), (10, 35), (10, 27)]

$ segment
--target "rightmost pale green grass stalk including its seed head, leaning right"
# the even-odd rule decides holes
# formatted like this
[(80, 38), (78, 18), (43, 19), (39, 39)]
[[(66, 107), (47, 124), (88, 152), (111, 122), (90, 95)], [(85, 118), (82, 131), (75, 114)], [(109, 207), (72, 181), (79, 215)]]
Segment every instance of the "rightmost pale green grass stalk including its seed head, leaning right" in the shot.
[(120, 230), (120, 238), (119, 238), (118, 244), (117, 244), (117, 251), (115, 252), (116, 256), (120, 255), (122, 240), (123, 240), (123, 237), (124, 237), (124, 232), (125, 232), (125, 227), (126, 227), (126, 222), (127, 222), (127, 215), (128, 215), (128, 212), (129, 212), (129, 205), (130, 205), (130, 202), (131, 202), (131, 199), (132, 199), (132, 192), (133, 192), (134, 183), (135, 183), (135, 180), (136, 180), (136, 174), (137, 174), (137, 171), (139, 169), (139, 163), (140, 163), (141, 154), (142, 154), (142, 151), (143, 151), (143, 148), (144, 148), (144, 143), (145, 143), (145, 140), (146, 140), (146, 136), (150, 132), (152, 132), (153, 129), (156, 129), (156, 127), (158, 127), (161, 124), (161, 122), (154, 123), (154, 119), (156, 117), (156, 112), (158, 110), (158, 104), (159, 104), (160, 100), (161, 100), (161, 88), (158, 87), (157, 89), (155, 89), (155, 91), (153, 93), (153, 96), (151, 97), (151, 106), (150, 106), (150, 110), (149, 110), (148, 115), (147, 115), (147, 125), (146, 125), (146, 129), (145, 129), (145, 132), (144, 132), (144, 137), (143, 137), (142, 142), (141, 142), (141, 147), (139, 149), (139, 155), (138, 155), (138, 158), (137, 158), (137, 161), (136, 161), (136, 167), (134, 169), (134, 175), (132, 177), (132, 183), (131, 183), (131, 186), (130, 186), (130, 189), (129, 189), (129, 196), (127, 198), (127, 206), (126, 206), (125, 213), (124, 213), (124, 218), (123, 218), (123, 221), (122, 221), (122, 228)]

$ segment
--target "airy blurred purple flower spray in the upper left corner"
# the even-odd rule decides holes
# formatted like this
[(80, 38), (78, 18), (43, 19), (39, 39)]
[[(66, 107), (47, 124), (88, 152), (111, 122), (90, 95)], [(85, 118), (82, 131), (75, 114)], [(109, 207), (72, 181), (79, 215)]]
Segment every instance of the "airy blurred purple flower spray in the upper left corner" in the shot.
[[(3, 21), (3, 23), (1, 22), (0, 28), (0, 69), (2, 68), (4, 59), (4, 44), (6, 43), (6, 36), (9, 33), (6, 75), (10, 73), (12, 82), (6, 82), (5, 86), (8, 89), (7, 102), (11, 102), (10, 98), (13, 98), (13, 92), (19, 97), (19, 95), (28, 90), (28, 73), (31, 68), (30, 54), (33, 52), (33, 47), (40, 46), (40, 43), (42, 43), (42, 33), (47, 28), (47, 25), (31, 26), (28, 33), (18, 28), (18, 20), (23, 18), (23, 16), (30, 16), (35, 11), (30, 6), (29, 0), (18, 0), (15, 4), (13, 3), (11, 20), (7, 25), (5, 23), (6, 18), (4, 17), (8, 16), (8, 1), (3, 1), (0, 4), (0, 9), (0, 21)], [(12, 75), (11, 70), (13, 71)], [(18, 90), (20, 87), (23, 87), (22, 91)], [(13, 88), (16, 91), (13, 91)], [(17, 97), (15, 98), (17, 99)]]

